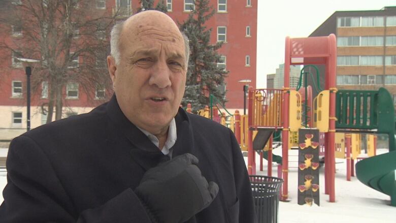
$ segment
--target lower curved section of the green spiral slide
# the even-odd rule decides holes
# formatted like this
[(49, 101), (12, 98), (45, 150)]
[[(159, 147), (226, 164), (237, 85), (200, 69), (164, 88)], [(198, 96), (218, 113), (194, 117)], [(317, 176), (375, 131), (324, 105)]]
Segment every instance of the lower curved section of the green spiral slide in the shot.
[(396, 151), (391, 151), (356, 163), (356, 177), (360, 182), (390, 196), (396, 207)]

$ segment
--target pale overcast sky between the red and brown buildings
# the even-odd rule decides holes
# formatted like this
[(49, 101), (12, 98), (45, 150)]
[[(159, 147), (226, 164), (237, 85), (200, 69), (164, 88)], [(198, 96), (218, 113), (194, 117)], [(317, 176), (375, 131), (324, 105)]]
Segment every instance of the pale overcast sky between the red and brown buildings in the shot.
[(285, 37), (308, 37), (335, 11), (380, 10), (396, 0), (258, 0), (257, 88), (284, 63)]

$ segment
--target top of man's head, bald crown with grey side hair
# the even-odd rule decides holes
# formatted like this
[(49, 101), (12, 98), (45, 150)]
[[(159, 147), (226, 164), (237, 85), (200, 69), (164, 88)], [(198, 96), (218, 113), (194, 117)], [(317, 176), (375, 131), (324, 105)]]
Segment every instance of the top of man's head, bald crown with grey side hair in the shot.
[(136, 42), (142, 36), (159, 38), (163, 41), (184, 42), (186, 64), (189, 58), (189, 41), (176, 23), (167, 14), (155, 10), (140, 12), (125, 21), (116, 23), (111, 30), (111, 55), (118, 64), (121, 59), (123, 44)]

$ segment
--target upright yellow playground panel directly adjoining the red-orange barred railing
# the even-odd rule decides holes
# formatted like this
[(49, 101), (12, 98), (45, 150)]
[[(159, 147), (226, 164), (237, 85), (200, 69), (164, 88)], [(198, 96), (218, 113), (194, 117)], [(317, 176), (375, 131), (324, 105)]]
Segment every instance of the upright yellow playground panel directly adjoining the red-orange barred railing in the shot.
[(299, 131), (301, 127), (301, 94), (296, 90), (290, 90), (289, 100), (289, 128), (290, 131)]

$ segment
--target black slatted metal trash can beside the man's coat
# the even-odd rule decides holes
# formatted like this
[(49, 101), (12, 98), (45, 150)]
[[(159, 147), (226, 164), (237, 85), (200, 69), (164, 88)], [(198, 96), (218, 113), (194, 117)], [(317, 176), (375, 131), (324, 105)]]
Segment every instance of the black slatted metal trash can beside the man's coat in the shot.
[(283, 179), (250, 175), (257, 223), (276, 223), (279, 216), (279, 189)]

